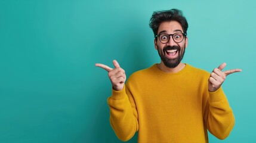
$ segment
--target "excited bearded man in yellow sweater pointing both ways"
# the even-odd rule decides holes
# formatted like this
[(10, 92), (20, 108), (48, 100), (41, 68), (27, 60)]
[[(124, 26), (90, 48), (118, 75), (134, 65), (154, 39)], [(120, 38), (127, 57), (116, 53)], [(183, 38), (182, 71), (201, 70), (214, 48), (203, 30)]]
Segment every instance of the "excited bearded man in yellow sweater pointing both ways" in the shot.
[(235, 117), (221, 84), (226, 76), (242, 71), (212, 73), (181, 63), (187, 47), (187, 20), (179, 10), (155, 12), (150, 19), (160, 64), (133, 73), (125, 84), (125, 71), (116, 60), (109, 72), (112, 96), (110, 123), (122, 141), (138, 131), (138, 142), (208, 142), (208, 133), (226, 138)]

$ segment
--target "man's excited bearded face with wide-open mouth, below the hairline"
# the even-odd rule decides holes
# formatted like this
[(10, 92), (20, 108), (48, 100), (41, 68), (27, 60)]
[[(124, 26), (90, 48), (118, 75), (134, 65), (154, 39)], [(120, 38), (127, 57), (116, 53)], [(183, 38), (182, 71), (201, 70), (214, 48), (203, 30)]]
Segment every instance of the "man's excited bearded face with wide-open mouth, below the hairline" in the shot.
[[(177, 21), (165, 21), (158, 28), (158, 35), (162, 33), (167, 33), (168, 35), (183, 33), (183, 29)], [(186, 47), (187, 37), (184, 37), (183, 41), (179, 43), (175, 42), (172, 36), (167, 43), (162, 43), (159, 38), (155, 39), (155, 48), (158, 50), (162, 62), (169, 68), (177, 67), (180, 64)]]

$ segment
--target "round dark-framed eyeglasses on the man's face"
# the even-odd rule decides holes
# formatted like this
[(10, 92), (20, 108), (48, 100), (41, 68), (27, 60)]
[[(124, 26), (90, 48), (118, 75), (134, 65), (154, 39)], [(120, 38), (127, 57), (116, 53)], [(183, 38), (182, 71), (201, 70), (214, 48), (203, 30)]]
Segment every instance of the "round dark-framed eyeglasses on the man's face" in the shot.
[(159, 41), (161, 43), (168, 43), (169, 40), (170, 40), (170, 36), (172, 36), (172, 39), (173, 39), (174, 42), (180, 43), (180, 42), (183, 41), (184, 37), (186, 37), (187, 35), (184, 34), (184, 33), (174, 33), (172, 35), (168, 35), (166, 33), (162, 33), (162, 34), (156, 35), (155, 38), (158, 37)]

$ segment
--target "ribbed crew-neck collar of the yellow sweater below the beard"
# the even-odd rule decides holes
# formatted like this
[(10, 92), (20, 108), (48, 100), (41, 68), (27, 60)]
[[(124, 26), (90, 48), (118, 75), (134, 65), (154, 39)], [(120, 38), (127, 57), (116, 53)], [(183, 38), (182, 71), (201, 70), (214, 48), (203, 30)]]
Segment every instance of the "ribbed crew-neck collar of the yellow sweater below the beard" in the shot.
[(179, 76), (186, 73), (189, 69), (191, 69), (189, 64), (185, 64), (185, 65), (186, 66), (182, 70), (178, 71), (177, 73), (167, 73), (165, 71), (162, 71), (161, 69), (158, 68), (158, 66), (156, 66), (156, 64), (154, 64), (150, 69), (152, 69), (154, 72), (156, 72), (161, 76)]

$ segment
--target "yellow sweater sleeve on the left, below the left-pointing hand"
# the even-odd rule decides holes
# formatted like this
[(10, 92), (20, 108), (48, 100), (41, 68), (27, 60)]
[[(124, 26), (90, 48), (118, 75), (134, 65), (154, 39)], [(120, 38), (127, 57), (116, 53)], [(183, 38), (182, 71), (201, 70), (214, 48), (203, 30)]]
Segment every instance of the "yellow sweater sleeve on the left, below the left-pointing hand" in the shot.
[(112, 97), (107, 99), (110, 108), (110, 124), (122, 141), (128, 141), (138, 130), (138, 116), (132, 96), (127, 95), (126, 87), (122, 91), (112, 89)]

